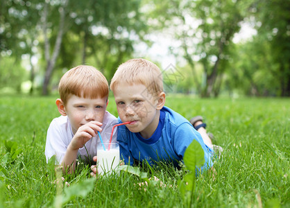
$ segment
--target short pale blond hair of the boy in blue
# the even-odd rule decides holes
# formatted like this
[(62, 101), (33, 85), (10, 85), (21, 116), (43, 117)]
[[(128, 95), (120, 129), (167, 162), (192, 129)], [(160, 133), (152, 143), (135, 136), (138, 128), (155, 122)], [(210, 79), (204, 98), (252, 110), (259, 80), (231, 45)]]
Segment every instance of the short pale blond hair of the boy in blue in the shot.
[(135, 58), (121, 64), (112, 78), (110, 89), (114, 92), (119, 83), (142, 84), (153, 95), (163, 92), (162, 73), (153, 62)]

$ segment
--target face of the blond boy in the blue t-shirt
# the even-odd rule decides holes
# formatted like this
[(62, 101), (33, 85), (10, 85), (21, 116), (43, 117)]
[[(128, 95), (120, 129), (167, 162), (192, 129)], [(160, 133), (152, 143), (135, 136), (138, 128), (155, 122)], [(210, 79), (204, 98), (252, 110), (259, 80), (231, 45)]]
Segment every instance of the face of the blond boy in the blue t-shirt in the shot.
[(157, 98), (141, 84), (120, 84), (116, 88), (114, 99), (121, 121), (131, 121), (126, 124), (131, 132), (140, 132), (144, 138), (151, 137), (159, 123)]

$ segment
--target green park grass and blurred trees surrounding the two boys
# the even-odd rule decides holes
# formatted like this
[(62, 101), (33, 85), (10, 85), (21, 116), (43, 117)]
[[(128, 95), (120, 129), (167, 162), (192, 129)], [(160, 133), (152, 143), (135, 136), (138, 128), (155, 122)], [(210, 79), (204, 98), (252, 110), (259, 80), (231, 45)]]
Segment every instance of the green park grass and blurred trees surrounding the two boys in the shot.
[[(46, 164), (46, 130), (59, 115), (54, 95), (63, 73), (90, 64), (110, 81), (121, 62), (139, 57), (162, 69), (167, 106), (187, 119), (204, 116), (224, 148), (216, 180), (197, 178), (194, 207), (290, 206), (289, 99), (278, 98), (290, 95), (289, 1), (0, 5), (0, 207), (187, 207), (178, 185), (185, 168), (140, 167), (162, 180), (147, 186), (130, 173), (91, 179), (80, 162), (76, 174), (64, 176), (70, 187), (62, 187)], [(255, 34), (238, 41), (245, 26)], [(164, 40), (174, 57), (165, 64), (154, 51)], [(108, 110), (117, 116), (113, 98)]]

